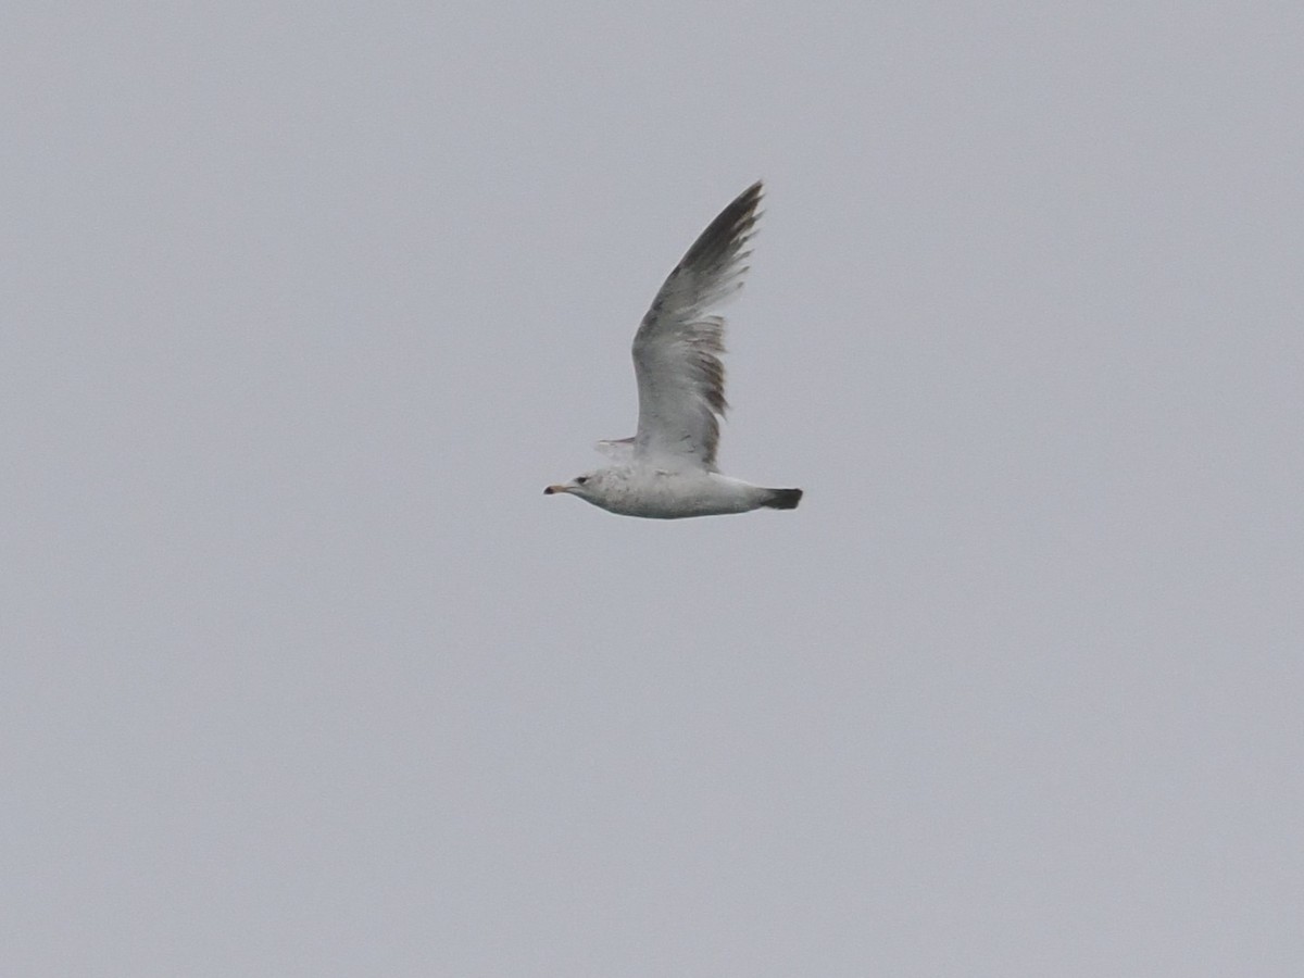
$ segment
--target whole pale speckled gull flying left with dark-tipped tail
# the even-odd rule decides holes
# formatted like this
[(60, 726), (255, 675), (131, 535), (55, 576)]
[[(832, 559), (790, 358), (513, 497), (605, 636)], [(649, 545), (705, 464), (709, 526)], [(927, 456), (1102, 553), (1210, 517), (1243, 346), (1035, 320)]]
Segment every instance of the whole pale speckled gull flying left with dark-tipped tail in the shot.
[(725, 413), (725, 321), (713, 310), (742, 288), (756, 228), (756, 181), (707, 226), (661, 286), (634, 335), (639, 428), (599, 442), (613, 464), (550, 485), (622, 516), (679, 519), (792, 510), (801, 489), (767, 489), (720, 475), (716, 446)]

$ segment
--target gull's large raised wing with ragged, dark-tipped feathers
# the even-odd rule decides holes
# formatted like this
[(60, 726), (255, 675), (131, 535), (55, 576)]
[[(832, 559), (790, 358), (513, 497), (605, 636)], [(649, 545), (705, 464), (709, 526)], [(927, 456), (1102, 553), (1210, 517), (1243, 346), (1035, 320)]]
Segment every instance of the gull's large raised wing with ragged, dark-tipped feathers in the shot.
[(713, 471), (725, 403), (725, 321), (711, 309), (742, 288), (760, 181), (711, 222), (661, 286), (634, 336), (634, 454)]

